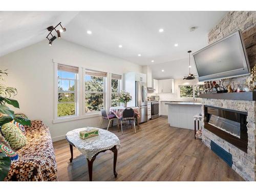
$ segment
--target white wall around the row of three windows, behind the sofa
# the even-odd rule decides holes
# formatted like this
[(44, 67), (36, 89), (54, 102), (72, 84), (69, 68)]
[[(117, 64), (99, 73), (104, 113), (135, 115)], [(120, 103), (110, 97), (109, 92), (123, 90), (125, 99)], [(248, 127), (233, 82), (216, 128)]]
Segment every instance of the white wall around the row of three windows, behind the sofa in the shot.
[(72, 42), (56, 39), (50, 47), (46, 40), (0, 57), (0, 68), (8, 69), (5, 84), (15, 87), (20, 110), (30, 119), (41, 119), (49, 126), (53, 141), (65, 138), (78, 127), (99, 126), (101, 117), (53, 123), (55, 62), (123, 74), (141, 72), (142, 67)]

